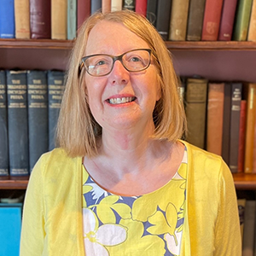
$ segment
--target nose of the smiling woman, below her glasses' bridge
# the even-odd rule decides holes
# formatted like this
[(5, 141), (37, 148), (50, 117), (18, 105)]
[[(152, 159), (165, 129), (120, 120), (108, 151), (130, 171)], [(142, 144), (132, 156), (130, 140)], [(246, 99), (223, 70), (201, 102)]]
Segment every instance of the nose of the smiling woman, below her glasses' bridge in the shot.
[(130, 73), (125, 69), (121, 61), (113, 63), (113, 69), (109, 74), (112, 84), (127, 84), (130, 79)]

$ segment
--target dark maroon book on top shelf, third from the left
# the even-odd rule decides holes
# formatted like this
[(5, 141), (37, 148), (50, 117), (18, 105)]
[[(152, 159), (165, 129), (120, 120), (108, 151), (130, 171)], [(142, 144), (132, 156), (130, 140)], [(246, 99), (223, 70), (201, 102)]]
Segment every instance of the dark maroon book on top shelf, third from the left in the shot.
[(50, 0), (30, 0), (31, 38), (50, 38)]

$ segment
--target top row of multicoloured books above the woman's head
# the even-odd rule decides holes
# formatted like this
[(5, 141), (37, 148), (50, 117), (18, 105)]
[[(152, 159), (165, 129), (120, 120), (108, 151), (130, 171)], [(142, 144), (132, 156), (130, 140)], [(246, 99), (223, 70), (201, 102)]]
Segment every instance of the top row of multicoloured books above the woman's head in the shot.
[(0, 0), (0, 38), (73, 40), (89, 15), (120, 9), (166, 41), (256, 41), (256, 0)]

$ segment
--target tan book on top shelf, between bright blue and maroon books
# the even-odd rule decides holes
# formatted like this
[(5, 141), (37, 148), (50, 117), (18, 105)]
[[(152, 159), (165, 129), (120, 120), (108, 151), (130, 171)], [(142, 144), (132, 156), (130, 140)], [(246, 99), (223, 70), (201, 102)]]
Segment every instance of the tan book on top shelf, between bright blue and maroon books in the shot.
[(29, 0), (15, 0), (15, 38), (30, 38)]

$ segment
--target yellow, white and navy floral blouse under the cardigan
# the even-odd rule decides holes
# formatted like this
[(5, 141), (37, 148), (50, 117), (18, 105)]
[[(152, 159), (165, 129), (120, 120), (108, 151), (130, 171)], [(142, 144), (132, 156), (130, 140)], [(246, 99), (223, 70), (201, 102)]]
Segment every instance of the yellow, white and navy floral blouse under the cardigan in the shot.
[(187, 151), (172, 179), (146, 195), (120, 196), (83, 170), (84, 250), (89, 256), (179, 255), (186, 200)]

